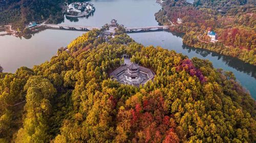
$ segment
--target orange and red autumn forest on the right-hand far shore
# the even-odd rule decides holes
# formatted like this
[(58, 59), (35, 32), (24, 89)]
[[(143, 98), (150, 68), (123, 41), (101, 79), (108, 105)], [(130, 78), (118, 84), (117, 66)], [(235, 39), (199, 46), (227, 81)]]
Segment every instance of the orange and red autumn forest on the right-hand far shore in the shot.
[[(256, 65), (256, 1), (218, 0), (193, 4), (185, 0), (167, 0), (156, 13), (163, 25), (172, 21), (172, 31), (185, 33), (183, 42)], [(177, 23), (181, 18), (182, 23)], [(207, 31), (215, 31), (218, 42), (211, 43)]]

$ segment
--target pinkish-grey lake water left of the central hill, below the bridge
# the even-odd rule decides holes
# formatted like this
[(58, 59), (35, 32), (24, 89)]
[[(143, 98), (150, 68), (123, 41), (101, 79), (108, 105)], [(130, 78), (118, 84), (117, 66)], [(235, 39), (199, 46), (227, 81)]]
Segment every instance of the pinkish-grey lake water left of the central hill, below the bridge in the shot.
[(31, 39), (14, 36), (0, 37), (0, 64), (4, 72), (14, 73), (20, 66), (33, 67), (50, 60), (61, 46), (67, 46), (75, 37), (82, 35), (76, 31), (46, 30)]

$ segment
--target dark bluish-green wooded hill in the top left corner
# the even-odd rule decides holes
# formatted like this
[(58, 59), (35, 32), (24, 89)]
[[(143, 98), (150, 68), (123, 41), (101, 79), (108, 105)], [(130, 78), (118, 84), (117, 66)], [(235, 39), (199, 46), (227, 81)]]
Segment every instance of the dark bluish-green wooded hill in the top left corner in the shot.
[(65, 3), (75, 0), (9, 0), (0, 1), (0, 25), (23, 30), (30, 21), (58, 23), (64, 19)]

